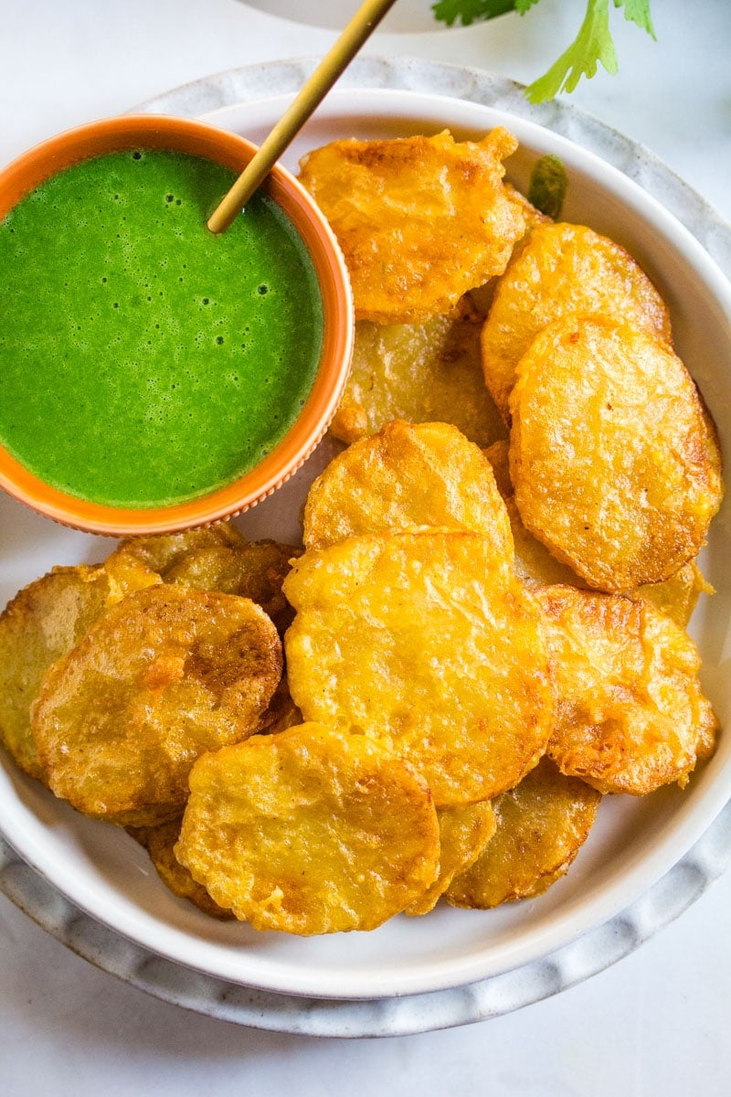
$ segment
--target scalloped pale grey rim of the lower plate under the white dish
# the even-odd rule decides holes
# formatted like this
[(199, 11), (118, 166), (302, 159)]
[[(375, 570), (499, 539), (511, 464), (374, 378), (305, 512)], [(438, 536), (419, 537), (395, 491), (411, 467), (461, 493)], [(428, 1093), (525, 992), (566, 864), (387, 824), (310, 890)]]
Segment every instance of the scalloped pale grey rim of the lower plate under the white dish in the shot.
[[(137, 111), (209, 113), (297, 90), (315, 59), (251, 66), (169, 92)], [(615, 131), (559, 103), (534, 108), (518, 84), (477, 69), (431, 61), (362, 58), (349, 88), (429, 92), (505, 110), (576, 140), (654, 195), (716, 261), (731, 270), (731, 231), (662, 161)], [(146, 992), (208, 1016), (276, 1031), (331, 1037), (396, 1036), (469, 1024), (548, 997), (609, 966), (689, 906), (731, 862), (731, 807), (641, 898), (539, 959), (478, 983), (387, 999), (313, 999), (226, 983), (164, 960), (79, 912), (9, 847), (0, 886), (69, 948)]]

